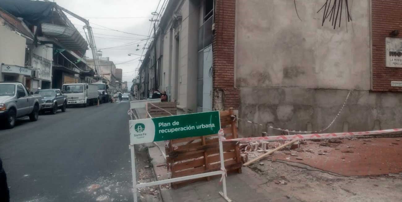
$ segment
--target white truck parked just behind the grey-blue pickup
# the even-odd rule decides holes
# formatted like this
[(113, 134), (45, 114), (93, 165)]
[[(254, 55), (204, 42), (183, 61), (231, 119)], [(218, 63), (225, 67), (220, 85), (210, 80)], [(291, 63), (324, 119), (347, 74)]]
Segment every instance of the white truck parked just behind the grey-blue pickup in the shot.
[(98, 85), (94, 83), (65, 83), (62, 92), (67, 95), (67, 105), (95, 105), (98, 103)]

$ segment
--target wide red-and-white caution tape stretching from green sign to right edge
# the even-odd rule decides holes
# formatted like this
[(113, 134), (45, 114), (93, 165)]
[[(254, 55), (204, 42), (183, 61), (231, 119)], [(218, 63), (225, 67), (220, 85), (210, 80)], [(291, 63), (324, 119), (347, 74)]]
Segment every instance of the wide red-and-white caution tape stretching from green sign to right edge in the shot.
[(290, 141), (292, 139), (330, 139), (339, 137), (353, 137), (361, 135), (378, 135), (386, 133), (402, 132), (402, 128), (377, 130), (377, 131), (363, 131), (363, 132), (349, 132), (349, 133), (320, 133), (320, 134), (297, 134), (297, 135), (278, 135), (267, 137), (246, 137), (236, 139), (222, 139), (222, 141)]

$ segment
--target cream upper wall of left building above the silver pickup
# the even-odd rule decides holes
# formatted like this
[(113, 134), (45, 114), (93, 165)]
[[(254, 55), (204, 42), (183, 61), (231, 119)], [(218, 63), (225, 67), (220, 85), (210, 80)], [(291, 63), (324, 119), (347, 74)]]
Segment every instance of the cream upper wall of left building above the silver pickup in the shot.
[[(25, 43), (26, 39), (10, 30), (7, 26), (0, 24), (0, 65), (25, 66)], [(25, 84), (25, 77), (18, 76), (18, 81)], [(0, 81), (3, 75), (0, 71)]]

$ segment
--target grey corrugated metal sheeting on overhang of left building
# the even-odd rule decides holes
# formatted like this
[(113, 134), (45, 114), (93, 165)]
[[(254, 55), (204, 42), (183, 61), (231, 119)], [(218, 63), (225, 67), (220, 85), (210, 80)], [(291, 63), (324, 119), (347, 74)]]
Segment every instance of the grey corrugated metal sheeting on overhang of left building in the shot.
[(41, 27), (45, 36), (56, 38), (70, 50), (88, 49), (88, 43), (76, 29), (49, 23), (42, 23)]

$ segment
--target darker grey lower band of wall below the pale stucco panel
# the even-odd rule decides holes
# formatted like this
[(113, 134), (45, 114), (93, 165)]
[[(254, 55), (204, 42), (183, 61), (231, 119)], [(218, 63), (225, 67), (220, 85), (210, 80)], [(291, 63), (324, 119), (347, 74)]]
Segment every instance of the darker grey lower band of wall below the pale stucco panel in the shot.
[[(348, 93), (348, 90), (335, 89), (241, 88), (239, 117), (264, 126), (239, 121), (240, 132), (258, 136), (267, 131), (269, 124), (292, 130), (319, 131), (331, 123)], [(400, 103), (401, 93), (353, 91), (326, 132), (399, 128), (402, 125)], [(280, 134), (281, 131), (269, 133)]]

